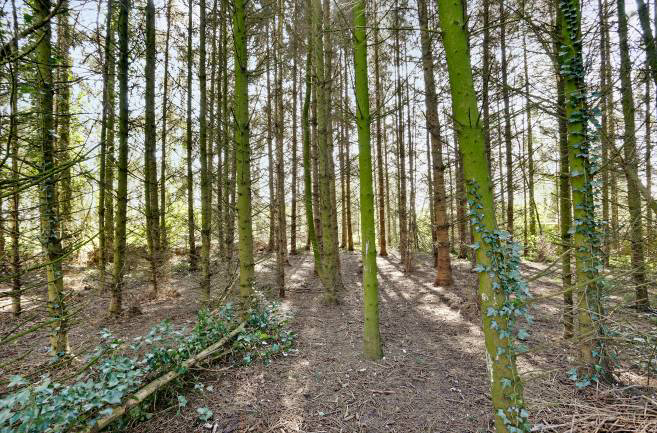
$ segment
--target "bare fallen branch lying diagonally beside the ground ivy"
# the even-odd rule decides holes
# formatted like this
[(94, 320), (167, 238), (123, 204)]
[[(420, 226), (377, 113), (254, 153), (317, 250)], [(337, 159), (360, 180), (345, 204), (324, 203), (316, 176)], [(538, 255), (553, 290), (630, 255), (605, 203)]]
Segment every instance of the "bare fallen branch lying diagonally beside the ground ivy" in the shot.
[[(189, 369), (190, 367), (193, 367), (195, 364), (198, 364), (201, 361), (204, 361), (206, 358), (213, 355), (224, 344), (226, 344), (228, 341), (233, 339), (233, 337), (235, 337), (237, 334), (242, 332), (244, 330), (245, 325), (246, 325), (246, 321), (240, 323), (240, 325), (237, 328), (233, 329), (233, 331), (231, 331), (230, 334), (226, 335), (224, 338), (222, 338), (215, 344), (209, 346), (204, 351), (184, 361), (182, 363), (182, 367), (183, 367), (182, 370)], [(101, 431), (102, 429), (104, 429), (105, 427), (107, 427), (108, 425), (110, 425), (117, 419), (121, 418), (123, 415), (125, 415), (130, 409), (132, 409), (133, 407), (137, 406), (138, 404), (146, 400), (146, 398), (148, 398), (155, 391), (159, 390), (160, 388), (167, 385), (172, 380), (176, 379), (178, 376), (180, 376), (180, 374), (181, 373), (179, 373), (178, 371), (169, 371), (163, 376), (160, 376), (159, 378), (153, 380), (152, 382), (141, 388), (139, 391), (137, 391), (135, 394), (128, 397), (128, 401), (126, 401), (120, 406), (116, 406), (112, 410), (112, 413), (110, 415), (101, 418), (93, 427), (89, 427), (86, 431), (89, 433), (97, 433)]]

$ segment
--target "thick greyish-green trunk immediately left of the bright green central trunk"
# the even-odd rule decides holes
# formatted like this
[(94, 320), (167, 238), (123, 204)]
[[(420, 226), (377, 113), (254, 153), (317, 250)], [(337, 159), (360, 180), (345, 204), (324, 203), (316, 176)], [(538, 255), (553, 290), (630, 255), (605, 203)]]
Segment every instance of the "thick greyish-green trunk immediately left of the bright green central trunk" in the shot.
[(338, 242), (336, 233), (333, 230), (333, 212), (332, 206), (332, 188), (331, 182), (335, 185), (335, 177), (331, 176), (331, 167), (333, 155), (331, 145), (328, 143), (328, 128), (330, 127), (329, 119), (329, 98), (330, 88), (327, 86), (328, 80), (325, 75), (325, 52), (323, 38), (323, 13), (320, 0), (312, 1), (312, 20), (313, 20), (313, 51), (314, 51), (314, 69), (317, 78), (317, 130), (318, 130), (318, 156), (319, 156), (319, 201), (320, 201), (320, 221), (322, 226), (322, 267), (324, 274), (324, 287), (326, 288), (325, 300), (328, 303), (336, 303), (338, 294), (342, 290), (342, 277), (340, 275), (340, 257), (338, 255)]

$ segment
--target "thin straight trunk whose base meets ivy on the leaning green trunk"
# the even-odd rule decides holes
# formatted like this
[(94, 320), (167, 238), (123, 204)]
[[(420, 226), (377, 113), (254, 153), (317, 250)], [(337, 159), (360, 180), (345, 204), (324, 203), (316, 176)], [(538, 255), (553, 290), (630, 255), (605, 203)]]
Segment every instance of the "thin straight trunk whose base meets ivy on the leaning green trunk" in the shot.
[(506, 145), (506, 228), (513, 235), (513, 146), (511, 137), (511, 108), (508, 79), (508, 57), (506, 52), (505, 0), (500, 0), (500, 48), (502, 50), (502, 99), (504, 100), (504, 144)]

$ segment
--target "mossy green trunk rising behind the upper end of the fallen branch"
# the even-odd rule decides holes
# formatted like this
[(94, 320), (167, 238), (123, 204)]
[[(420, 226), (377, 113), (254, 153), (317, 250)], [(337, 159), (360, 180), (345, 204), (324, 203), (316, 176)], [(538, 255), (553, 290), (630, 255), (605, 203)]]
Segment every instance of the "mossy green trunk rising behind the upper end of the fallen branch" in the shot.
[[(235, 63), (235, 145), (236, 182), (239, 190), (237, 219), (239, 232), (240, 297), (249, 303), (255, 276), (253, 228), (251, 223), (251, 147), (249, 144), (249, 87), (245, 0), (233, 2), (233, 49)], [(246, 311), (246, 310), (245, 310)]]

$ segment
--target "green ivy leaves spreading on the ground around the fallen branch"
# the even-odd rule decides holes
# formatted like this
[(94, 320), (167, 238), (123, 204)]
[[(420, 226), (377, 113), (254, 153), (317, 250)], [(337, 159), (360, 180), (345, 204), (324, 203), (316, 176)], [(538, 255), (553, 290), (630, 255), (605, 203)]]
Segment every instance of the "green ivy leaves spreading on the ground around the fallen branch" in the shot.
[[(248, 356), (249, 362), (244, 364), (255, 359), (268, 364), (273, 355), (285, 355), (294, 343), (294, 334), (283, 329), (285, 324), (285, 318), (276, 314), (276, 306), (254, 308), (249, 312), (245, 331), (233, 343), (233, 350), (246, 353), (244, 357)], [(185, 373), (185, 360), (219, 341), (234, 326), (233, 307), (229, 304), (218, 314), (200, 311), (190, 332), (163, 322), (127, 344), (103, 330), (102, 343), (88, 356), (88, 362), (95, 366), (80, 373), (74, 383), (56, 383), (44, 375), (28, 384), (21, 376), (12, 376), (9, 387), (18, 389), (0, 400), (0, 433), (61, 432), (93, 426), (98, 419), (111, 414), (111, 406), (121, 404), (152, 378), (171, 370)], [(145, 354), (138, 356), (146, 349)], [(185, 407), (187, 399), (178, 395), (177, 405)], [(212, 417), (207, 408), (198, 411), (201, 419)], [(141, 414), (139, 408), (133, 412), (131, 415)]]

